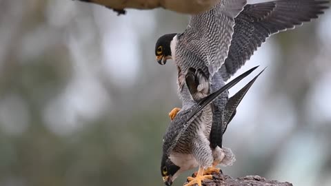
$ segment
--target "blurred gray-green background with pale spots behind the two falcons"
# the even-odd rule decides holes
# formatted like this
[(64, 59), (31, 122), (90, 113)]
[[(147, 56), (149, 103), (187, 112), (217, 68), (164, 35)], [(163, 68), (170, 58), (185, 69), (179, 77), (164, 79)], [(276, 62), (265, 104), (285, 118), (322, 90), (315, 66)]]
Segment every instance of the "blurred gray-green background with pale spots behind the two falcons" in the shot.
[[(161, 9), (0, 0), (0, 185), (163, 185), (162, 136), (181, 102), (154, 44), (187, 23)], [(268, 66), (225, 133), (237, 155), (225, 174), (331, 185), (330, 41), (326, 10), (239, 70)]]

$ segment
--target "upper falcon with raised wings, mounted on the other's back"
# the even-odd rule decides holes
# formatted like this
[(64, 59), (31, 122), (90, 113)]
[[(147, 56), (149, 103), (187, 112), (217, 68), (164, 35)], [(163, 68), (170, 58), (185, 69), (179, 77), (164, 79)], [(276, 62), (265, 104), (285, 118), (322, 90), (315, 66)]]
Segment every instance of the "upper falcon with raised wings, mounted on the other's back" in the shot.
[[(225, 84), (245, 61), (272, 34), (301, 25), (323, 14), (328, 1), (279, 0), (247, 4), (244, 0), (219, 1), (207, 12), (192, 15), (188, 27), (181, 34), (165, 34), (155, 45), (157, 62), (164, 65), (173, 59), (178, 69), (179, 96), (182, 110), (190, 105), (191, 96), (185, 85), (188, 68), (200, 68), (208, 76), (210, 92)], [(212, 146), (221, 147), (221, 130), (228, 92), (223, 92), (212, 104)], [(174, 118), (181, 109), (174, 108)]]

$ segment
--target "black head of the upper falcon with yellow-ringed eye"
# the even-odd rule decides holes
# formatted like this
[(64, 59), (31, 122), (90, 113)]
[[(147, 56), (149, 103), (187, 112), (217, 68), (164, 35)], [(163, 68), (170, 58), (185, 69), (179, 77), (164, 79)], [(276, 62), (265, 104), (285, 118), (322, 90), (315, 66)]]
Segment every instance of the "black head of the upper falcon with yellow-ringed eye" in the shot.
[(171, 47), (172, 40), (177, 34), (165, 34), (157, 40), (155, 45), (155, 56), (157, 57), (157, 63), (165, 65), (167, 59), (172, 59)]

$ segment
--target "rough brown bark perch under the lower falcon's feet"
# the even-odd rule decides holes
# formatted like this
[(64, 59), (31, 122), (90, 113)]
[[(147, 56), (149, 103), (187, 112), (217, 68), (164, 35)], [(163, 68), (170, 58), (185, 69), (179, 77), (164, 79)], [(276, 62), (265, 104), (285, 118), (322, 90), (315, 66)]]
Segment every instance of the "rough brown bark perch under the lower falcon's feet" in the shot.
[[(185, 183), (186, 184), (186, 183)], [(245, 176), (243, 178), (231, 178), (224, 174), (213, 174), (212, 180), (204, 180), (204, 186), (293, 186), (292, 183), (281, 183), (276, 180), (266, 180), (261, 176)]]

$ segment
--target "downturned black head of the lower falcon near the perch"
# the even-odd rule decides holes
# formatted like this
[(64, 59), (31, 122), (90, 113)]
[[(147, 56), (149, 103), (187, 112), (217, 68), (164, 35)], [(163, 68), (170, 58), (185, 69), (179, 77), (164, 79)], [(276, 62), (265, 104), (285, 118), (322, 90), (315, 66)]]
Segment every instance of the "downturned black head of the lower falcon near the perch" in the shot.
[(172, 185), (172, 182), (174, 181), (174, 179), (177, 178), (179, 174), (179, 169), (181, 169), (181, 167), (174, 165), (170, 158), (163, 154), (161, 161), (161, 175), (165, 185)]

